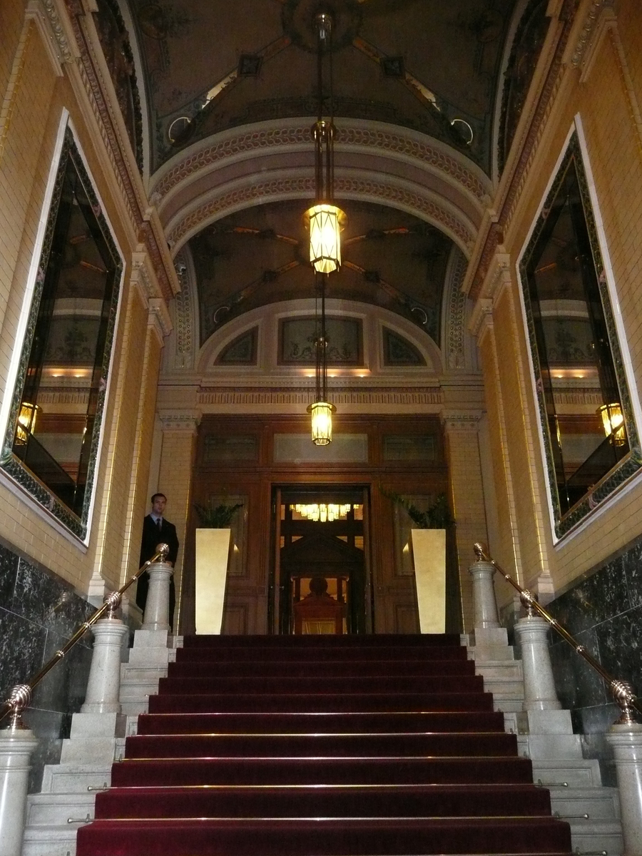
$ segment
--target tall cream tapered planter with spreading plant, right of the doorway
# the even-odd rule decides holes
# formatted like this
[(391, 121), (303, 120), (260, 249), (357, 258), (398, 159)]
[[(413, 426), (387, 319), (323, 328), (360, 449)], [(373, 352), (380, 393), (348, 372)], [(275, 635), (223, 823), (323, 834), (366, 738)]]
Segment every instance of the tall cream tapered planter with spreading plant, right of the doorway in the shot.
[(446, 495), (439, 494), (435, 502), (422, 511), (398, 493), (383, 489), (381, 492), (404, 508), (414, 524), (410, 543), (421, 633), (445, 633), (446, 528), (454, 522)]

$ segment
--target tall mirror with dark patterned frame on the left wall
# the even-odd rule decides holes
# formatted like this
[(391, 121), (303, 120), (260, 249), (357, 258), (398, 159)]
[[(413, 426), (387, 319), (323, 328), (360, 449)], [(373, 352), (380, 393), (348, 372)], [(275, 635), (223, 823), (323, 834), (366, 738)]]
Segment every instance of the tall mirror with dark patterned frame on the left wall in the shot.
[(38, 271), (0, 466), (84, 538), (122, 259), (69, 128)]

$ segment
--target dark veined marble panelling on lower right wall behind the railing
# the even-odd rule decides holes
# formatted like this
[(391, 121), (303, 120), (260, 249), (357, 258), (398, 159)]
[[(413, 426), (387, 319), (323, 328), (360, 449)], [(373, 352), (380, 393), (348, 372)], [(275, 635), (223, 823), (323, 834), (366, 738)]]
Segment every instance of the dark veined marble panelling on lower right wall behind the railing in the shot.
[[(642, 693), (642, 540), (547, 604), (546, 609), (615, 678)], [(619, 716), (608, 688), (556, 633), (550, 652), (562, 707), (574, 730), (585, 735), (585, 755), (599, 758), (604, 784), (615, 784), (615, 767), (604, 734)]]

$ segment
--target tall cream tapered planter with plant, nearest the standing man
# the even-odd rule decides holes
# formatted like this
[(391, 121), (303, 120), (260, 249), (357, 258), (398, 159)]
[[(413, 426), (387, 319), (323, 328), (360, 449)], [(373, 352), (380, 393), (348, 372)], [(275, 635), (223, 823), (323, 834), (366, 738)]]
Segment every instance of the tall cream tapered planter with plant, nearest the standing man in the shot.
[(196, 529), (196, 633), (221, 633), (228, 575), (230, 524), (242, 502), (194, 504)]

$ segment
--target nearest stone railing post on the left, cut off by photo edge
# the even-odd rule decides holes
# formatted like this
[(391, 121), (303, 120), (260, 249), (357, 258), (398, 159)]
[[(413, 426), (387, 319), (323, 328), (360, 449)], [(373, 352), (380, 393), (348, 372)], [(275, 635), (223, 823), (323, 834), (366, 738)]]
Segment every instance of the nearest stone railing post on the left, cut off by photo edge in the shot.
[(30, 761), (38, 740), (27, 728), (0, 731), (0, 856), (21, 856)]

